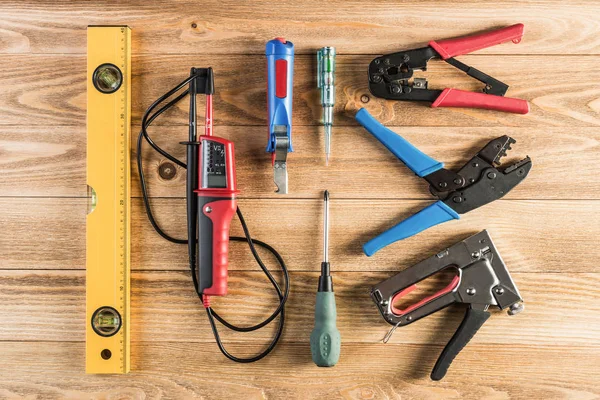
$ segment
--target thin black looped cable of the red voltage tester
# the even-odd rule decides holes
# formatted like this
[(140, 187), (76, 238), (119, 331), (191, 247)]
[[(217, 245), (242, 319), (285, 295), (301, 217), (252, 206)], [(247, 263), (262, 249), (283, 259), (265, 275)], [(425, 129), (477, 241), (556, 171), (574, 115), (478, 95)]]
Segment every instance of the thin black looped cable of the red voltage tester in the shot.
[[(167, 92), (163, 96), (159, 97), (154, 103), (152, 103), (150, 105), (150, 107), (148, 107), (148, 109), (144, 113), (144, 116), (142, 117), (142, 127), (141, 127), (140, 134), (138, 136), (138, 141), (137, 141), (138, 174), (140, 177), (140, 186), (141, 186), (141, 190), (142, 190), (142, 198), (144, 201), (144, 208), (146, 209), (146, 214), (148, 215), (150, 224), (152, 225), (154, 230), (160, 236), (162, 236), (164, 239), (166, 239), (170, 242), (177, 243), (177, 244), (187, 244), (188, 240), (177, 239), (177, 238), (174, 238), (174, 237), (170, 236), (169, 234), (167, 234), (158, 225), (158, 223), (156, 222), (154, 215), (152, 213), (152, 209), (150, 207), (150, 202), (149, 202), (149, 197), (148, 197), (148, 188), (146, 185), (146, 179), (144, 177), (144, 171), (143, 171), (143, 166), (142, 166), (142, 139), (145, 139), (148, 142), (148, 144), (150, 144), (150, 146), (152, 146), (152, 148), (154, 150), (156, 150), (158, 153), (160, 153), (167, 159), (171, 160), (172, 162), (176, 163), (177, 165), (181, 166), (182, 168), (187, 168), (187, 166), (184, 162), (178, 160), (177, 158), (175, 158), (174, 156), (172, 156), (171, 154), (169, 154), (168, 152), (166, 152), (165, 150), (160, 148), (148, 135), (147, 128), (152, 124), (152, 122), (158, 116), (160, 116), (162, 113), (164, 113), (165, 111), (167, 111), (168, 109), (173, 107), (175, 104), (177, 104), (179, 101), (184, 99), (189, 94), (189, 91), (185, 90), (184, 92), (182, 92), (181, 94), (176, 96), (173, 100), (169, 101), (167, 104), (160, 107), (156, 112), (154, 112), (152, 115), (150, 115), (156, 107), (158, 107), (161, 103), (163, 103), (169, 97), (173, 96), (175, 93), (177, 93), (178, 91), (183, 89), (192, 79), (193, 79), (193, 77), (187, 78), (186, 80), (181, 82), (179, 85), (177, 85), (173, 89), (171, 89), (169, 92)], [(211, 329), (215, 336), (215, 341), (217, 342), (217, 346), (219, 347), (219, 350), (221, 350), (223, 355), (225, 355), (230, 360), (238, 362), (238, 363), (251, 363), (251, 362), (258, 361), (258, 360), (264, 358), (266, 355), (268, 355), (275, 348), (275, 346), (279, 342), (279, 339), (281, 338), (281, 335), (283, 333), (283, 326), (284, 326), (284, 322), (285, 322), (285, 303), (287, 302), (287, 299), (289, 296), (289, 291), (290, 291), (290, 277), (289, 277), (289, 273), (288, 273), (287, 267), (285, 265), (285, 262), (283, 261), (283, 258), (277, 252), (277, 250), (275, 250), (272, 246), (270, 246), (269, 244), (267, 244), (265, 242), (262, 242), (257, 239), (252, 239), (252, 237), (250, 235), (250, 231), (246, 224), (246, 221), (244, 220), (244, 217), (243, 217), (242, 212), (240, 211), (239, 207), (237, 208), (236, 213), (240, 220), (240, 224), (242, 225), (242, 229), (244, 231), (245, 237), (230, 236), (229, 239), (232, 241), (236, 241), (236, 242), (248, 243), (250, 251), (251, 251), (252, 255), (254, 256), (254, 259), (256, 260), (256, 262), (260, 266), (260, 268), (263, 270), (263, 272), (265, 273), (265, 275), (271, 282), (271, 285), (277, 292), (277, 297), (279, 298), (279, 306), (277, 307), (277, 309), (275, 311), (273, 311), (273, 313), (267, 319), (265, 319), (264, 321), (260, 322), (257, 325), (249, 326), (249, 327), (239, 327), (239, 326), (231, 324), (230, 322), (226, 321), (223, 317), (221, 317), (219, 314), (217, 314), (217, 312), (214, 311), (212, 309), (212, 307), (210, 307), (210, 306), (206, 307), (206, 314), (208, 316), (208, 320), (210, 322)], [(283, 292), (281, 291), (281, 288), (280, 288), (279, 284), (277, 283), (277, 281), (275, 280), (275, 278), (273, 278), (273, 275), (271, 274), (271, 272), (267, 269), (266, 265), (262, 261), (260, 255), (258, 254), (258, 252), (256, 250), (255, 245), (258, 245), (258, 246), (266, 249), (267, 251), (272, 253), (273, 256), (275, 256), (275, 259), (277, 260), (279, 266), (281, 267), (281, 271), (283, 273), (283, 281), (284, 281), (284, 285), (285, 285), (285, 290)], [(196, 290), (196, 293), (200, 297), (200, 300), (202, 300), (201, 294), (198, 293), (198, 280), (196, 278), (195, 263), (190, 263), (190, 270), (192, 273), (192, 281), (194, 283), (194, 289)], [(254, 356), (254, 357), (249, 357), (249, 358), (236, 357), (236, 356), (230, 354), (225, 349), (225, 347), (223, 346), (223, 342), (221, 341), (219, 332), (217, 330), (216, 323), (215, 323), (215, 319), (216, 319), (221, 324), (223, 324), (226, 328), (234, 330), (236, 332), (252, 332), (252, 331), (258, 330), (258, 329), (263, 328), (264, 326), (268, 325), (278, 316), (279, 316), (279, 324), (277, 327), (277, 332), (275, 333), (275, 336), (273, 337), (273, 340), (270, 342), (270, 344), (267, 346), (267, 348), (265, 350), (263, 350), (258, 355)]]

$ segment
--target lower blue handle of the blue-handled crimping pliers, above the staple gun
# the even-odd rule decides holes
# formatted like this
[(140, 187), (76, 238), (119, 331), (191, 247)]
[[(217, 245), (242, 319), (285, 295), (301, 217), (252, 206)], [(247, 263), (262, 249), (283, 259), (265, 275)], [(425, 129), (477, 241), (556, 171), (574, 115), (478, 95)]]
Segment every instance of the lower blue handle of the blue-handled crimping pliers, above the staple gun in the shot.
[(363, 251), (371, 257), (377, 251), (387, 245), (390, 245), (398, 240), (406, 239), (423, 232), (432, 226), (441, 224), (442, 222), (450, 221), (451, 219), (459, 219), (460, 216), (456, 211), (451, 209), (441, 200), (425, 207), (416, 214), (411, 215), (404, 221), (400, 222), (393, 228), (388, 229), (381, 235), (369, 240), (363, 246)]

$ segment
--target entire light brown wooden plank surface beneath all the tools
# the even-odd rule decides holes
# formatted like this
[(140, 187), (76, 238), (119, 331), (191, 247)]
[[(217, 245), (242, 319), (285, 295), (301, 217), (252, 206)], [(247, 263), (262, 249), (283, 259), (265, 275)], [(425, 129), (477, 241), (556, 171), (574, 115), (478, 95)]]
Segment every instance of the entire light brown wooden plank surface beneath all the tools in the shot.
[[(432, 39), (525, 24), (523, 41), (460, 57), (530, 102), (528, 115), (373, 98), (369, 61)], [(256, 238), (291, 271), (288, 320), (268, 358), (237, 365), (218, 351), (194, 294), (186, 250), (162, 240), (132, 198), (132, 372), (84, 373), (86, 26), (133, 30), (133, 120), (191, 66), (215, 70), (215, 133), (235, 142), (240, 207)], [(597, 399), (600, 397), (600, 3), (388, 1), (1, 1), (0, 2), (0, 398)], [(273, 193), (265, 153), (267, 40), (296, 46), (295, 152), (290, 194)], [(315, 52), (337, 48), (333, 156), (324, 165)], [(479, 90), (443, 62), (431, 87)], [(505, 199), (367, 258), (361, 244), (432, 201), (427, 186), (353, 119), (377, 119), (449, 167), (487, 141), (517, 140), (510, 160), (533, 159)], [(157, 120), (156, 141), (183, 157), (187, 104)], [(132, 150), (132, 155), (135, 151)], [(184, 173), (146, 148), (159, 222), (184, 235)], [(132, 164), (132, 167), (135, 165)], [(135, 172), (134, 168), (132, 171)], [(321, 261), (321, 193), (332, 193), (331, 251), (342, 355), (311, 362), (308, 339)], [(463, 315), (451, 307), (396, 331), (369, 288), (423, 258), (488, 229), (526, 302), (515, 317), (494, 311), (441, 382), (429, 372)], [(237, 219), (233, 234), (239, 234)], [(215, 309), (240, 324), (276, 299), (243, 244), (232, 244), (230, 294)], [(274, 266), (273, 263), (270, 265)], [(232, 334), (251, 354), (273, 329)]]

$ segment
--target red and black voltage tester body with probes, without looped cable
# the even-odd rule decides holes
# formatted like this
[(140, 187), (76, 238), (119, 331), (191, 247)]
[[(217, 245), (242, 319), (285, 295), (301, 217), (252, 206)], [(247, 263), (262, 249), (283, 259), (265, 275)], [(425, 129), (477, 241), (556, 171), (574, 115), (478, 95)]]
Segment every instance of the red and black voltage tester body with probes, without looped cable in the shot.
[[(208, 307), (209, 296), (227, 294), (229, 227), (237, 209), (233, 142), (212, 135), (212, 68), (192, 68), (190, 141), (188, 146), (188, 247), (195, 263), (197, 291)], [(204, 135), (197, 136), (196, 95), (206, 94)], [(195, 175), (197, 171), (197, 175)], [(197, 182), (197, 184), (195, 184)]]

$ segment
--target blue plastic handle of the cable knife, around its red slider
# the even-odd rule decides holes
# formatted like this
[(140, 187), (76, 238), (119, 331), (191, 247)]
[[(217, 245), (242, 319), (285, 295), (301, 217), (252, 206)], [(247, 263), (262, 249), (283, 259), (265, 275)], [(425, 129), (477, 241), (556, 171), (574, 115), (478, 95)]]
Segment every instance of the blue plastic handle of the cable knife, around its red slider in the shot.
[[(275, 151), (274, 127), (283, 125), (287, 127), (289, 139), (288, 152), (292, 148), (292, 93), (294, 87), (294, 44), (284, 39), (273, 39), (267, 42), (265, 48), (267, 56), (267, 110), (269, 125), (269, 143), (267, 152)], [(284, 60), (285, 90), (283, 96), (277, 96), (277, 61)]]

